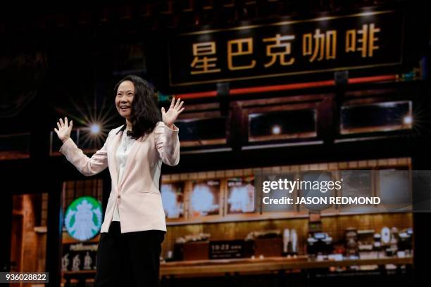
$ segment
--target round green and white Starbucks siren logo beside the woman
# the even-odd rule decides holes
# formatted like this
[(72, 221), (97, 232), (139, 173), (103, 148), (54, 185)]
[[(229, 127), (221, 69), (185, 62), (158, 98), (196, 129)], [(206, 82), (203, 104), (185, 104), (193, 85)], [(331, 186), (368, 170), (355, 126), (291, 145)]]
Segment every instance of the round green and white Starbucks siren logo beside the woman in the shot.
[(101, 217), (99, 201), (90, 196), (82, 196), (69, 205), (64, 224), (70, 236), (86, 241), (99, 233)]

